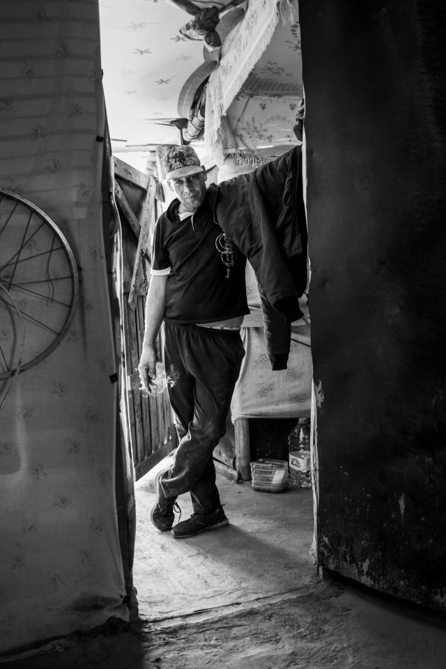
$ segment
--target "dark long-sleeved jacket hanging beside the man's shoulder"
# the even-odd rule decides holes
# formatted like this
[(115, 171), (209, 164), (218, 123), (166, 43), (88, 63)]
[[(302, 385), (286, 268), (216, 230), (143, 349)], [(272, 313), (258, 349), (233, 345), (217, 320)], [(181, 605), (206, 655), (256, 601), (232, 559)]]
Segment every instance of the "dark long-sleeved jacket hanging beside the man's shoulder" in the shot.
[(298, 298), (307, 287), (300, 146), (208, 193), (215, 220), (256, 274), (272, 369), (286, 369), (291, 322), (302, 316)]

